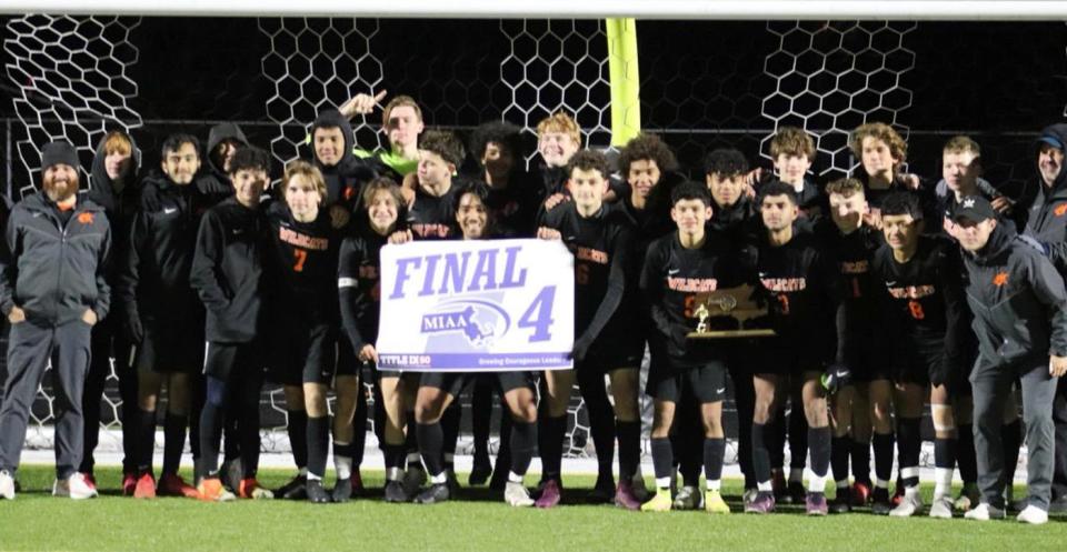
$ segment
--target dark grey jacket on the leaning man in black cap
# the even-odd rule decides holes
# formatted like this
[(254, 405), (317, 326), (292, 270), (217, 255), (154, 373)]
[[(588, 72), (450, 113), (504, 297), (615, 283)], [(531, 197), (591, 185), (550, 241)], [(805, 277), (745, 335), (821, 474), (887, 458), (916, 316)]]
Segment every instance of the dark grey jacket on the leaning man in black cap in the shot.
[(1037, 243), (997, 225), (977, 253), (964, 252), (978, 369), (1046, 365), (1067, 355), (1067, 291)]

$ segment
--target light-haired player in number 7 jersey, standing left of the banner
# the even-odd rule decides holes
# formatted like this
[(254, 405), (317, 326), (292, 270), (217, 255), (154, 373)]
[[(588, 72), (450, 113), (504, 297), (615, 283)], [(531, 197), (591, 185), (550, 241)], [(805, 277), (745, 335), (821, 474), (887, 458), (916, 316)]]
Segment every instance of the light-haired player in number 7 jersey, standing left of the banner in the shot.
[[(308, 500), (345, 502), (352, 493), (352, 415), (361, 390), (357, 364), (339, 363), (337, 354), (333, 283), (341, 233), (325, 208), (329, 197), (326, 179), (310, 163), (292, 161), (286, 167), (282, 197), (282, 202), (271, 203), (267, 210), (272, 310), (283, 317), (271, 328), (276, 348), (272, 379), (287, 388), (287, 401), (299, 398), (307, 412)], [(337, 483), (328, 494), (322, 479), (330, 443), (326, 395), (331, 381), (338, 398), (333, 420)]]

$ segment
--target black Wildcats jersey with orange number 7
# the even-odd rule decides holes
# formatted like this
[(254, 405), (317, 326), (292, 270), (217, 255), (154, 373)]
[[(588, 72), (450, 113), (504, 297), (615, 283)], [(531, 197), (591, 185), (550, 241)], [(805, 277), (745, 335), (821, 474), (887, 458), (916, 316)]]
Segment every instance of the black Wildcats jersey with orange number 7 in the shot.
[(337, 252), (341, 233), (330, 225), (330, 213), (319, 210), (311, 222), (299, 222), (280, 201), (267, 208), (270, 248), (268, 268), (277, 314), (299, 317), (305, 323), (337, 319)]

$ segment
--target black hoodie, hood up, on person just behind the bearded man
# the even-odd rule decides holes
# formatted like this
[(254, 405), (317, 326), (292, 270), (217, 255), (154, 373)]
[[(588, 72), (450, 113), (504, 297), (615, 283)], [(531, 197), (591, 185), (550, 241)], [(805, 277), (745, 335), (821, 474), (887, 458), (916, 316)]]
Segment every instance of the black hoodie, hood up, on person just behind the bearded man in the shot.
[(111, 250), (114, 254), (109, 260), (107, 268), (108, 283), (116, 285), (119, 272), (121, 270), (121, 259), (129, 244), (130, 224), (133, 222), (133, 215), (137, 213), (140, 203), (141, 188), (137, 182), (137, 171), (141, 164), (141, 150), (137, 149), (133, 138), (127, 134), (130, 143), (133, 144), (130, 155), (130, 165), (127, 169), (126, 180), (120, 190), (114, 189), (114, 181), (108, 175), (104, 164), (107, 153), (103, 145), (107, 137), (100, 139), (97, 144), (97, 153), (92, 158), (92, 170), (89, 178), (89, 190), (87, 195), (93, 203), (103, 208), (108, 215), (108, 222), (111, 224)]

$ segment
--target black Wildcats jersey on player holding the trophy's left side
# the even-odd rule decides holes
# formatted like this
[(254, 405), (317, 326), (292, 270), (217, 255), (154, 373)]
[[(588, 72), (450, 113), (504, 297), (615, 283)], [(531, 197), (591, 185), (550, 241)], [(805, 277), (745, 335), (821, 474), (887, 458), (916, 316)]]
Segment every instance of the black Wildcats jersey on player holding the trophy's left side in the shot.
[[(736, 248), (724, 235), (709, 233), (700, 248), (686, 249), (674, 232), (648, 247), (640, 289), (655, 328), (654, 340), (662, 344), (669, 367), (700, 365), (720, 352), (686, 340), (699, 322), (697, 295), (735, 288), (747, 280)], [(711, 329), (736, 329), (716, 328), (715, 319), (711, 322)]]

